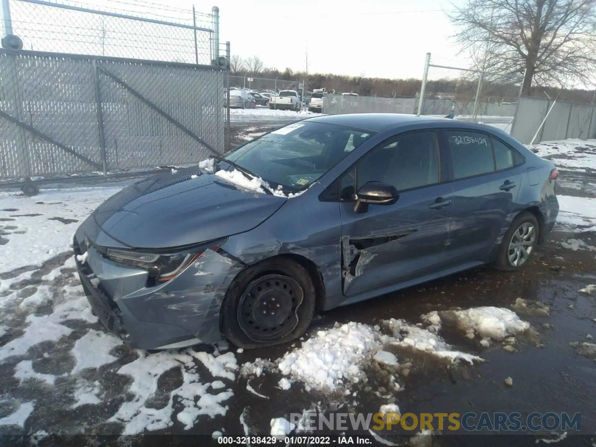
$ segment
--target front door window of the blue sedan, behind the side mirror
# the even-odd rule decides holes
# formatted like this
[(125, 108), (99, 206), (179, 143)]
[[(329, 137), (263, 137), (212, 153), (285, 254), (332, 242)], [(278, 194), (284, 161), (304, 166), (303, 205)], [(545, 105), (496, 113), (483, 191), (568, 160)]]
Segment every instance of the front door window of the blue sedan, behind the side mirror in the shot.
[(356, 191), (367, 182), (393, 185), (398, 191), (439, 182), (439, 150), (434, 132), (390, 138), (356, 164)]

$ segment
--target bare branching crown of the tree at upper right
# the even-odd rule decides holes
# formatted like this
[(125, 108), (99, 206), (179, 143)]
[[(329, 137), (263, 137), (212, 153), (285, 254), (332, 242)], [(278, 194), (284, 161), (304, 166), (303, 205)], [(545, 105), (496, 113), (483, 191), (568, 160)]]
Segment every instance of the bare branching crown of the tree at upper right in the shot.
[(479, 69), (569, 87), (596, 73), (596, 0), (468, 0), (449, 15), (457, 41)]

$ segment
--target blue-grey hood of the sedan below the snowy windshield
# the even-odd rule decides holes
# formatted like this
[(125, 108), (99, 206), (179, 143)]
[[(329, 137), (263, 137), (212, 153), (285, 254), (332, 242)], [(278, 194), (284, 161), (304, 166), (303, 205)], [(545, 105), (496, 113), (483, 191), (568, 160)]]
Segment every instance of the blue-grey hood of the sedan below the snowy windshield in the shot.
[(125, 246), (164, 249), (249, 231), (286, 200), (245, 190), (213, 174), (179, 170), (123, 189), (90, 218)]

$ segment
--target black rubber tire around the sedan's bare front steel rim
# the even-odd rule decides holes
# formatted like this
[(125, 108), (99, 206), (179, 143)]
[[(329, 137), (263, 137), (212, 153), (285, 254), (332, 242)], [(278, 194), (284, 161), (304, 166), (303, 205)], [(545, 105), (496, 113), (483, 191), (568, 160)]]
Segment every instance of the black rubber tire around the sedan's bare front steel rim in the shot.
[[(285, 278), (289, 278), (288, 281), (292, 281), (294, 284), (299, 285), (302, 289), (302, 302), (297, 305), (295, 311), (293, 310), (291, 312), (292, 319), (290, 324), (294, 323), (294, 318), (297, 319), (293, 328), (288, 329), (286, 333), (280, 333), (280, 336), (275, 339), (255, 340), (254, 338), (258, 337), (254, 337), (254, 332), (249, 330), (248, 332), (253, 336), (249, 337), (247, 331), (243, 330), (243, 324), (239, 321), (241, 299), (246, 300), (247, 297), (250, 297), (251, 295), (247, 294), (249, 287), (253, 287), (253, 284), (257, 283), (259, 278), (263, 278), (263, 281), (266, 281), (270, 277), (269, 275), (281, 275)], [(275, 279), (272, 281), (275, 281)], [(254, 302), (254, 309), (257, 308), (257, 304), (260, 305), (259, 302)], [(310, 275), (303, 266), (290, 259), (266, 259), (252, 267), (244, 269), (238, 274), (234, 281), (232, 281), (232, 284), (226, 292), (221, 308), (222, 334), (224, 334), (232, 344), (243, 349), (256, 349), (259, 347), (289, 343), (300, 338), (300, 336), (302, 336), (308, 329), (312, 317), (315, 314), (315, 305), (315, 287), (312, 284)], [(250, 307), (250, 304), (248, 306)], [(256, 312), (256, 310), (253, 310), (253, 312)], [(246, 324), (244, 325), (246, 326)], [(281, 325), (283, 325), (283, 323)], [(289, 327), (290, 326), (288, 326), (288, 328)], [(251, 330), (254, 331), (253, 328), (251, 328)], [(264, 329), (262, 330), (264, 331)]]

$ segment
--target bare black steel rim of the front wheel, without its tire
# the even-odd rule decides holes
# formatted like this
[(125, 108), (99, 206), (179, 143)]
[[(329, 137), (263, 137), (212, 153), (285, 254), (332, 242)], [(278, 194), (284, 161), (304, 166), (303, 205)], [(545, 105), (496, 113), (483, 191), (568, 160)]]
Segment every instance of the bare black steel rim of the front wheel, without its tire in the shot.
[(299, 322), (296, 310), (303, 290), (284, 275), (265, 275), (252, 281), (238, 303), (238, 325), (255, 342), (279, 339)]

